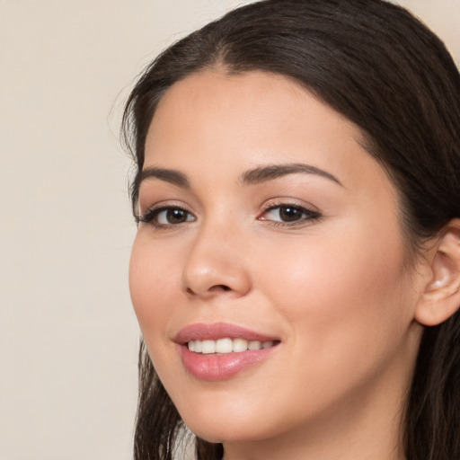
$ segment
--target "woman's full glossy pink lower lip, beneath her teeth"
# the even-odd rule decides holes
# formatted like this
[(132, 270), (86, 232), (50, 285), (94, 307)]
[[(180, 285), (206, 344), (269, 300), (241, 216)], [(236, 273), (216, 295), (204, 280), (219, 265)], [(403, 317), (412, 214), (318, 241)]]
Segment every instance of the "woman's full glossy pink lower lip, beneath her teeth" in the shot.
[(181, 346), (181, 360), (190, 374), (199, 380), (226, 380), (268, 358), (277, 348), (278, 345), (275, 345), (269, 349), (206, 355), (190, 351), (186, 345), (183, 345)]

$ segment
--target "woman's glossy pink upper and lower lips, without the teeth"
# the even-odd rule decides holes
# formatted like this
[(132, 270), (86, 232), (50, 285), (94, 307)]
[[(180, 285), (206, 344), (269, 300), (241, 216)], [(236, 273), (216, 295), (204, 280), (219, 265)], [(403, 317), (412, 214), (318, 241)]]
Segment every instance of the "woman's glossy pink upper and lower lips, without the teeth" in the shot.
[(247, 341), (275, 341), (279, 338), (254, 332), (241, 326), (228, 323), (195, 323), (183, 328), (174, 341), (180, 345), (181, 362), (191, 376), (199, 380), (226, 380), (244, 369), (264, 361), (279, 349), (279, 343), (269, 349), (247, 350), (226, 354), (204, 355), (190, 351), (188, 341), (217, 341), (223, 338), (245, 339)]

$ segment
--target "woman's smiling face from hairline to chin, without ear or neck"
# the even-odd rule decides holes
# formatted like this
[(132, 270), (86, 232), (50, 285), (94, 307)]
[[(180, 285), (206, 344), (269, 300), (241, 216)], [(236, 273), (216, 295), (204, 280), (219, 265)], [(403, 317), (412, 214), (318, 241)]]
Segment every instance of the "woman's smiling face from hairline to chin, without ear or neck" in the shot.
[(208, 71), (160, 102), (130, 289), (155, 369), (202, 438), (401, 409), (418, 293), (396, 191), (362, 144), (279, 75)]

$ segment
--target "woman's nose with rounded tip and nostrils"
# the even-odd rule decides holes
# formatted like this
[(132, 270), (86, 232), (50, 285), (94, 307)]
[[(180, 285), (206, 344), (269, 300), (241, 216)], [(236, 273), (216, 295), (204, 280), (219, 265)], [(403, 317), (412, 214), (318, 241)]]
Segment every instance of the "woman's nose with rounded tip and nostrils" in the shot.
[(203, 229), (191, 243), (183, 267), (182, 285), (188, 296), (244, 296), (252, 287), (242, 235), (217, 228)]

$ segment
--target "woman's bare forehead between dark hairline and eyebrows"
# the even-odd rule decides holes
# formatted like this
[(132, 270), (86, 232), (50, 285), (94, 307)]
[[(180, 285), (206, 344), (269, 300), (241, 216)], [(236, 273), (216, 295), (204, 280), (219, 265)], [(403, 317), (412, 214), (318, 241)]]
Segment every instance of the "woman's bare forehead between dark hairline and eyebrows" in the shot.
[(301, 161), (351, 185), (368, 164), (383, 173), (363, 144), (356, 125), (288, 77), (208, 70), (165, 93), (146, 138), (145, 167), (209, 173), (216, 165), (239, 175)]

